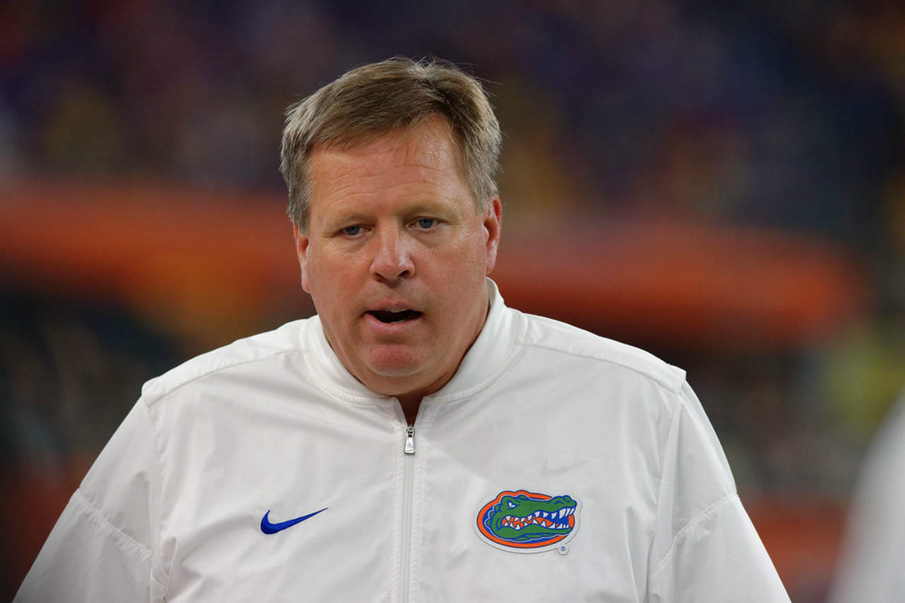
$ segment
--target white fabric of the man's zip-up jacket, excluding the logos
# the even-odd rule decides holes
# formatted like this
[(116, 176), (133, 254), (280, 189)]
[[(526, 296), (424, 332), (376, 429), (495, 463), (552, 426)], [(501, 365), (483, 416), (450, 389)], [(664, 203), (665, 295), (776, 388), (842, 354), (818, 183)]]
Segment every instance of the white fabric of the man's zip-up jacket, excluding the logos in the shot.
[[(488, 286), (414, 455), (317, 317), (149, 381), (16, 600), (788, 601), (684, 373)], [(519, 489), (578, 502), (565, 554), (481, 540)]]

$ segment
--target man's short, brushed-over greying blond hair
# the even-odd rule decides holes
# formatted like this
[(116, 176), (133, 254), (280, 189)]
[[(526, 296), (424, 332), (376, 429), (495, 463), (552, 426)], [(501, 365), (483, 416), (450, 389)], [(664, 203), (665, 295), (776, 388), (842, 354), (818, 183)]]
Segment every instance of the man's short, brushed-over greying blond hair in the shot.
[(433, 115), (449, 123), (475, 201), (486, 208), (497, 196), (501, 140), (481, 83), (449, 62), (395, 57), (346, 72), (286, 110), (280, 171), (292, 222), (308, 226), (313, 148), (352, 147)]

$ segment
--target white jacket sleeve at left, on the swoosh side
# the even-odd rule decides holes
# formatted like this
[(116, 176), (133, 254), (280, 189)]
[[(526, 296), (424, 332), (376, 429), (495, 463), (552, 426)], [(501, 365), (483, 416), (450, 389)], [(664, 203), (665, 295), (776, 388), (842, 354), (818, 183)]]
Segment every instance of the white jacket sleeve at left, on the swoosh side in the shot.
[(154, 601), (157, 450), (142, 400), (91, 466), (14, 601)]

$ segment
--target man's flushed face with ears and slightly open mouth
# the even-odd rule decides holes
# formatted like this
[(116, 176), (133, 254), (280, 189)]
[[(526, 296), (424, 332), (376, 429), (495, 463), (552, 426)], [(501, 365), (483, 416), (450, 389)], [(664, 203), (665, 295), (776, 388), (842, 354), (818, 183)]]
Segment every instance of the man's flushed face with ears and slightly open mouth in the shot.
[(480, 212), (441, 118), (354, 148), (315, 148), (301, 282), (330, 346), (367, 388), (443, 387), (487, 315), (500, 200)]

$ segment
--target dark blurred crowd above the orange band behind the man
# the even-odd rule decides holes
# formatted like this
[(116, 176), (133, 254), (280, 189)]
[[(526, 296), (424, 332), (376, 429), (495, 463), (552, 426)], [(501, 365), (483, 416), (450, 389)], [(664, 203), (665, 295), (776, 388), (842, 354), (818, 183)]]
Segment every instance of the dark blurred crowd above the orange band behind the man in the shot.
[(350, 65), (433, 54), (496, 95), (519, 208), (542, 180), (524, 195), (538, 211), (753, 221), (863, 251), (902, 219), (899, 3), (48, 0), (4, 13), (7, 177), (280, 187), (290, 101)]

